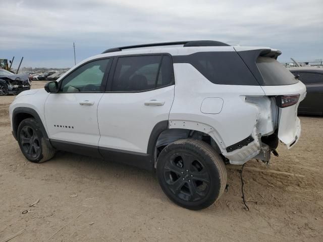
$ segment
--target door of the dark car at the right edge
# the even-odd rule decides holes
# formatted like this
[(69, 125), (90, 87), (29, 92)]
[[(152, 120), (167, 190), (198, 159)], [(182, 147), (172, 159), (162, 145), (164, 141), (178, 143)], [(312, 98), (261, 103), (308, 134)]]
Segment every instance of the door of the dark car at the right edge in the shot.
[(323, 74), (298, 72), (299, 80), (306, 85), (306, 98), (300, 103), (299, 111), (322, 114), (323, 112)]

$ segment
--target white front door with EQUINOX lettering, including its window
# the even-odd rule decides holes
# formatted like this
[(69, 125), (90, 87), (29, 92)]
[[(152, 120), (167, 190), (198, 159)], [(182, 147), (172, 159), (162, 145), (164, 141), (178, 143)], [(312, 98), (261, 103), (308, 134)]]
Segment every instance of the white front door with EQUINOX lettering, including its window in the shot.
[(101, 58), (81, 65), (60, 81), (58, 93), (49, 94), (44, 111), (54, 147), (68, 150), (88, 145), (97, 150), (100, 137), (97, 106), (111, 62), (109, 58)]

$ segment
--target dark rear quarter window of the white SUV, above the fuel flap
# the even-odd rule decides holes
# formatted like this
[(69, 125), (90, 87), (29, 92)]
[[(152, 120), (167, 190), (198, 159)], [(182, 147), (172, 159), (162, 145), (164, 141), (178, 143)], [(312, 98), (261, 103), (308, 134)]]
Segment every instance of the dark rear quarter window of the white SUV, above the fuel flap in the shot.
[(198, 52), (173, 59), (190, 63), (214, 84), (259, 85), (237, 52)]

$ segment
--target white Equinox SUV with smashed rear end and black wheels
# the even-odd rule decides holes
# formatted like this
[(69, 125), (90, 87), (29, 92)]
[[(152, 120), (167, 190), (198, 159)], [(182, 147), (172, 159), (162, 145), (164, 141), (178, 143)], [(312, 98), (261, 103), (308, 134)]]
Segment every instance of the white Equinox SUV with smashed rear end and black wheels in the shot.
[(306, 88), (269, 47), (182, 41), (108, 49), (10, 106), (24, 156), (65, 150), (156, 169), (175, 203), (202, 209), (227, 184), (225, 163), (265, 162), (300, 137)]

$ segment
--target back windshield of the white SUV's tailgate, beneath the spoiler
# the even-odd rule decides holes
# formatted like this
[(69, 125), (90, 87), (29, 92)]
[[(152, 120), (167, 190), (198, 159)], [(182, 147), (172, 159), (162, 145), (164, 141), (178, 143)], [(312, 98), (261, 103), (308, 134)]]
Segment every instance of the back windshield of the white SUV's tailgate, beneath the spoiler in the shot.
[(256, 65), (263, 78), (264, 86), (290, 85), (298, 82), (294, 75), (275, 58), (259, 56)]

